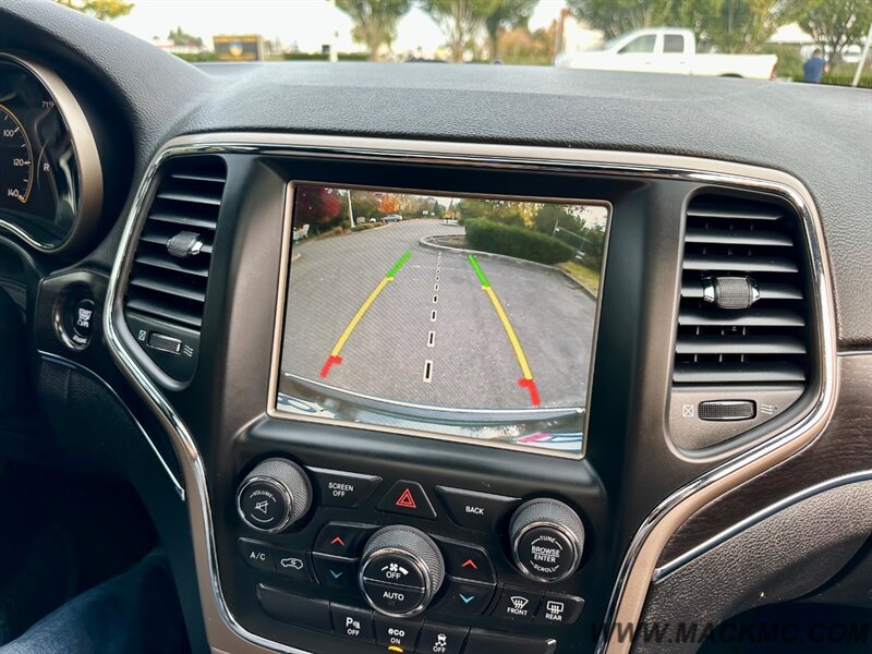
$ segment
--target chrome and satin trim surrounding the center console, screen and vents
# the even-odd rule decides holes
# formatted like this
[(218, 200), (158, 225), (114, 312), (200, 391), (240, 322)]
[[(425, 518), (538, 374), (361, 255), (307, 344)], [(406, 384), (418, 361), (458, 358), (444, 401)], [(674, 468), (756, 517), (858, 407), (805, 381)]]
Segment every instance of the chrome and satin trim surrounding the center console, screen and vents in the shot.
[[(144, 219), (148, 191), (160, 164), (172, 155), (241, 153), (280, 156), (389, 159), (415, 164), (474, 166), (496, 169), (573, 171), (641, 178), (681, 179), (700, 183), (744, 187), (780, 195), (802, 220), (810, 255), (811, 286), (819, 337), (816, 367), (820, 371), (808, 412), (767, 440), (685, 485), (665, 498), (645, 519), (630, 543), (618, 572), (606, 614), (604, 638), (597, 652), (629, 652), (631, 643), (614, 638), (617, 622), (638, 621), (659, 553), (675, 530), (705, 504), (784, 461), (811, 443), (828, 422), (836, 393), (835, 317), (823, 232), (808, 190), (796, 178), (780, 171), (692, 157), (647, 153), (601, 152), (555, 147), (443, 143), (266, 133), (207, 133), (182, 136), (167, 143), (149, 165), (136, 193), (116, 258), (107, 293), (104, 324), (110, 351), (119, 367), (152, 407), (169, 433), (181, 460), (189, 488), (191, 531), (196, 572), (209, 644), (215, 651), (256, 653), (264, 651), (305, 654), (301, 650), (263, 638), (237, 622), (225, 601), (218, 571), (206, 473), (190, 431), (158, 386), (124, 346), (126, 330), (121, 302), (130, 270), (135, 234)], [(129, 336), (129, 335), (128, 335)]]

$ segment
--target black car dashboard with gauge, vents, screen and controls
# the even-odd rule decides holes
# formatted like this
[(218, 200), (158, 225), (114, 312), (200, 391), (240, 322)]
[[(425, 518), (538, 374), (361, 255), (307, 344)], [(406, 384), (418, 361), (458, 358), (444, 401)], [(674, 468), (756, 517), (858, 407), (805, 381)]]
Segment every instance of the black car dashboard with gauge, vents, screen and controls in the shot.
[[(135, 488), (194, 652), (694, 652), (626, 629), (868, 607), (869, 93), (0, 20), (0, 455)], [(485, 205), (526, 216), (491, 242), (581, 220), (570, 264), (471, 244)]]

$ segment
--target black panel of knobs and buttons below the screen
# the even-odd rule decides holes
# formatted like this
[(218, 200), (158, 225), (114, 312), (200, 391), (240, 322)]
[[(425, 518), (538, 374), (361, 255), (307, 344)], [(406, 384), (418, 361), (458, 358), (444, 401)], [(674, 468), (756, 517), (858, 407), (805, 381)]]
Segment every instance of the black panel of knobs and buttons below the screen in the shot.
[(584, 521), (556, 497), (270, 457), (235, 504), (247, 588), (288, 625), (395, 652), (538, 654), (584, 607)]

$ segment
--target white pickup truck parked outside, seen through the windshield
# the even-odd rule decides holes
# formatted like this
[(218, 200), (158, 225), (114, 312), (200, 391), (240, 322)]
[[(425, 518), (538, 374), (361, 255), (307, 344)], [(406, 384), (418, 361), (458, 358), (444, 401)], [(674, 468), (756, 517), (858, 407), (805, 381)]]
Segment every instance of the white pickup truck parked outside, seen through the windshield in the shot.
[(560, 68), (752, 80), (773, 78), (776, 63), (775, 55), (698, 55), (693, 32), (677, 27), (637, 29), (597, 50), (565, 52), (554, 60)]

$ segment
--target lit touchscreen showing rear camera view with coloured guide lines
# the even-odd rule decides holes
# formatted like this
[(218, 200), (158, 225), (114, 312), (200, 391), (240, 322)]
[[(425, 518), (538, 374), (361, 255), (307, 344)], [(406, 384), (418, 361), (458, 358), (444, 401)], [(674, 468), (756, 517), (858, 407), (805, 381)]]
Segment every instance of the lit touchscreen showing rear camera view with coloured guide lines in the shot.
[(582, 455), (608, 206), (291, 191), (275, 414)]

